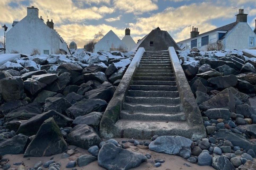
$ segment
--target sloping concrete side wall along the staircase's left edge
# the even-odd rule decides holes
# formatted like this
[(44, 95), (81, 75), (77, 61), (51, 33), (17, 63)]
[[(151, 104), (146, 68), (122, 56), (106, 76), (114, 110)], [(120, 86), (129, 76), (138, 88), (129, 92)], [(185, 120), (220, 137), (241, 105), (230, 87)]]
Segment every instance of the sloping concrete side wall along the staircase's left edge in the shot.
[(119, 119), (119, 114), (122, 109), (122, 103), (125, 99), (125, 95), (129, 90), (132, 77), (134, 72), (136, 71), (141, 57), (145, 49), (140, 47), (132, 59), (131, 64), (127, 68), (121, 82), (119, 83), (118, 87), (115, 90), (115, 93), (110, 100), (107, 108), (102, 116), (101, 123), (100, 123), (100, 135), (104, 138), (111, 138), (113, 137), (113, 130), (115, 129), (114, 124)]

